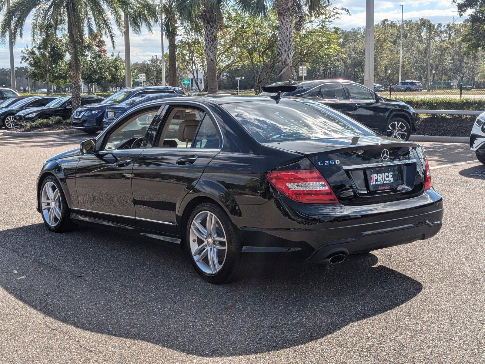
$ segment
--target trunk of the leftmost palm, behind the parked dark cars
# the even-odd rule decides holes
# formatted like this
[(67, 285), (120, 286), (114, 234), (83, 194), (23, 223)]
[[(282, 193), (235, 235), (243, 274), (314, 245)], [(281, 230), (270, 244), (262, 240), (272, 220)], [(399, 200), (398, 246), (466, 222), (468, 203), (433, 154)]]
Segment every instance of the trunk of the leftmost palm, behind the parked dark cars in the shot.
[(81, 32), (82, 24), (76, 21), (76, 6), (73, 0), (66, 1), (66, 10), (69, 51), (71, 53), (71, 110), (74, 113), (81, 106), (81, 45), (83, 34)]

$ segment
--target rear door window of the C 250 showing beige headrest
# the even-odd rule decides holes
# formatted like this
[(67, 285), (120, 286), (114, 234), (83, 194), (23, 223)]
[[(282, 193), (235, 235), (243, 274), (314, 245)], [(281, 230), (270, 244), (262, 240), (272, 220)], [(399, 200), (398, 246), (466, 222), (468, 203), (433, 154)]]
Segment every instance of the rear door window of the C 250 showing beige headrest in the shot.
[(169, 110), (161, 137), (154, 148), (191, 148), (204, 115), (205, 112), (193, 108), (175, 107)]

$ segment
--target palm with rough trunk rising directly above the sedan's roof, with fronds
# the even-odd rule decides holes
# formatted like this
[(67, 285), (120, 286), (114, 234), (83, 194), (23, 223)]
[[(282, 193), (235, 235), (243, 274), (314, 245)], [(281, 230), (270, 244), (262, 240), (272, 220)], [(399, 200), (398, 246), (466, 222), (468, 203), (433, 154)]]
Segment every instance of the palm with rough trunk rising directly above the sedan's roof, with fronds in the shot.
[(229, 0), (176, 0), (178, 11), (185, 21), (194, 27), (201, 22), (204, 27), (207, 91), (210, 94), (217, 92), (217, 32), (222, 25), (222, 10), (226, 1), (229, 2)]

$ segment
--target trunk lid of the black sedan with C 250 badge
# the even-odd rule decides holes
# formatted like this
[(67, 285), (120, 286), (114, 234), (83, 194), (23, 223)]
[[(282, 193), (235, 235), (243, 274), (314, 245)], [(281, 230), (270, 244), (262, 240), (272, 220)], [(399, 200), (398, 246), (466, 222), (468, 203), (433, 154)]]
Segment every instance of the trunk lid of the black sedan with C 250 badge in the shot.
[(344, 205), (407, 199), (424, 188), (424, 153), (416, 143), (357, 136), (268, 145), (305, 155)]

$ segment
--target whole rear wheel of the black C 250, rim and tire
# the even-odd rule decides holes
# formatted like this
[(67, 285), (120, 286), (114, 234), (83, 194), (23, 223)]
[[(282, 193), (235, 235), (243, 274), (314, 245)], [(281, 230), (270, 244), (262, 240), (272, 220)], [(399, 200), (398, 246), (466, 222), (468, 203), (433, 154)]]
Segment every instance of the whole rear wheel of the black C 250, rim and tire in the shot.
[(231, 220), (213, 203), (202, 203), (192, 211), (185, 240), (192, 265), (205, 281), (235, 281), (247, 270)]

